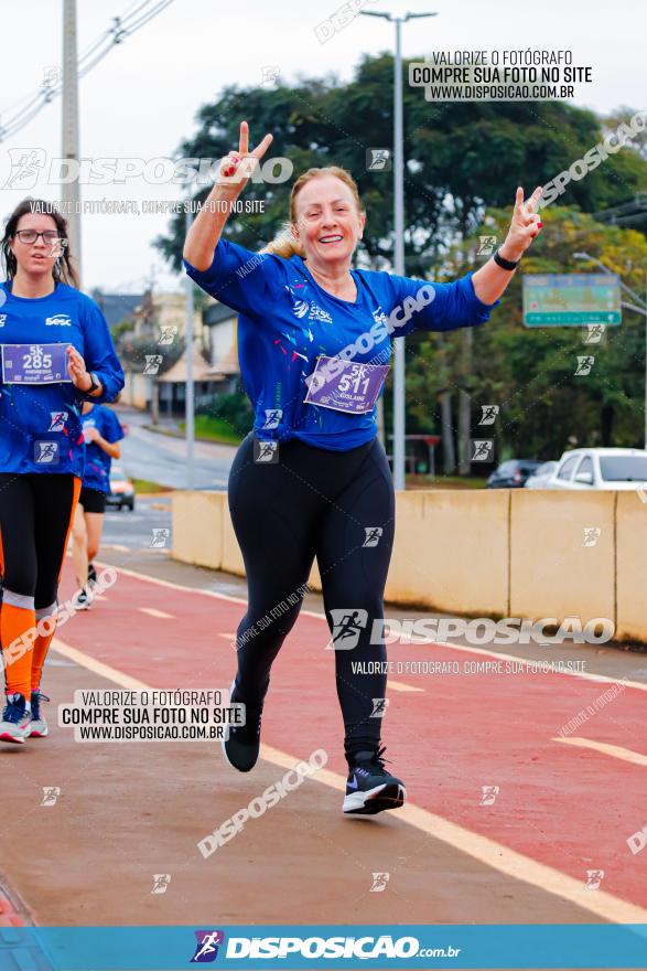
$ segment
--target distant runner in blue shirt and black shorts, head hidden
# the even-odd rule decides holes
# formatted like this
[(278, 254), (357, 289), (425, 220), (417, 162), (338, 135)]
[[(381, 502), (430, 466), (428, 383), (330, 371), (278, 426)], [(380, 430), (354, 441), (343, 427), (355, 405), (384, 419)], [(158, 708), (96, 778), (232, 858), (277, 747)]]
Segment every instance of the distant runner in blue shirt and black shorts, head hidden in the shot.
[(123, 438), (123, 428), (115, 412), (93, 402), (83, 403), (80, 420), (86, 444), (85, 470), (72, 530), (72, 555), (79, 586), (75, 606), (79, 610), (89, 610), (97, 580), (93, 559), (101, 545), (110, 467), (112, 459), (121, 457), (119, 442)]

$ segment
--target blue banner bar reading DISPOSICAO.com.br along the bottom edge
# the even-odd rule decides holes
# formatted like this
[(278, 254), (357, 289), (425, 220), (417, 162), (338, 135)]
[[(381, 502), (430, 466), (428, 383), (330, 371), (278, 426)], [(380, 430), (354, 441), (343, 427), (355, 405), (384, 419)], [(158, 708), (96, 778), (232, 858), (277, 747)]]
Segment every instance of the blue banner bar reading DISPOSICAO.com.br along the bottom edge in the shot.
[(0, 971), (647, 968), (647, 925), (0, 927)]

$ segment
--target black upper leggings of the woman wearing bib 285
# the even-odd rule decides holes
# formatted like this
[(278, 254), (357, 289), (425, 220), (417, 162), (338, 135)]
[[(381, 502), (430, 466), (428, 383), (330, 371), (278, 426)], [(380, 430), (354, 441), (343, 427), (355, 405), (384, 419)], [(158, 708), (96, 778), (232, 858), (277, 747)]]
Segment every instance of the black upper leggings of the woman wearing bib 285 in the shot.
[(72, 473), (0, 473), (0, 570), (8, 602), (33, 597), (40, 610), (56, 601), (78, 487)]

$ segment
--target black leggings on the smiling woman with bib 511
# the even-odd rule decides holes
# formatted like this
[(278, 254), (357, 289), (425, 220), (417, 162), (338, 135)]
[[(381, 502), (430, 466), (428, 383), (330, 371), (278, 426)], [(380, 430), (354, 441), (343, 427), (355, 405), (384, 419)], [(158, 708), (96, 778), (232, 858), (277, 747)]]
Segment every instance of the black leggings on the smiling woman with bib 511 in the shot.
[[(335, 636), (344, 629), (339, 645), (356, 642), (334, 652), (346, 754), (374, 749), (381, 726), (374, 698), (386, 696), (387, 676), (386, 648), (370, 643), (371, 628), (384, 617), (395, 529), (393, 486), (380, 441), (330, 451), (291, 439), (270, 463), (254, 461), (250, 433), (234, 459), (228, 498), (248, 583), (236, 643), (241, 700), (265, 697), (316, 556), (328, 627)], [(382, 664), (374, 665), (375, 673), (354, 673), (355, 661)]]

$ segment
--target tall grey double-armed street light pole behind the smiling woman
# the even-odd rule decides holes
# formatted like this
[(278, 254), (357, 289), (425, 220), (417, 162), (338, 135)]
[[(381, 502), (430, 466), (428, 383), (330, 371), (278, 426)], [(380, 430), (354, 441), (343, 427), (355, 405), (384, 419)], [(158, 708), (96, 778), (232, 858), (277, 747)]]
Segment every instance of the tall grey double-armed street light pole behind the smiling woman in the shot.
[[(396, 24), (396, 55), (393, 57), (393, 269), (405, 276), (405, 136), (402, 111), (402, 24), (435, 13), (377, 13), (363, 10), (364, 17), (381, 17)], [(405, 338), (393, 339), (393, 488), (405, 489)]]

